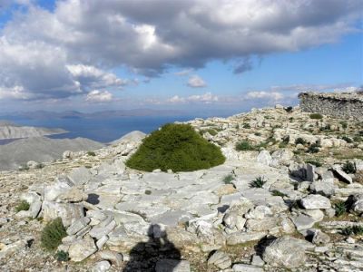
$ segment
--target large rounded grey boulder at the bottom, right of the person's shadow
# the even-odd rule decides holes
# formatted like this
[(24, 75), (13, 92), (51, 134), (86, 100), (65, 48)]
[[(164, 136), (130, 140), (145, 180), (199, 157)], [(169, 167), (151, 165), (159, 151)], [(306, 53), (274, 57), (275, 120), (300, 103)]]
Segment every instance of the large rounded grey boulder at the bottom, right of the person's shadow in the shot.
[(303, 241), (289, 236), (277, 238), (265, 248), (262, 258), (273, 267), (301, 267), (307, 259), (301, 242)]

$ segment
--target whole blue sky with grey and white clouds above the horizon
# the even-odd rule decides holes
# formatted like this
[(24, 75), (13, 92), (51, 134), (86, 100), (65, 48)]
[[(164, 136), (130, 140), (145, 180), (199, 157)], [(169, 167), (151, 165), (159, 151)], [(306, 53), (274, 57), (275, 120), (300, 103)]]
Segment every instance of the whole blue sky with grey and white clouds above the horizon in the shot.
[(361, 0), (0, 0), (0, 112), (246, 110), (363, 84)]

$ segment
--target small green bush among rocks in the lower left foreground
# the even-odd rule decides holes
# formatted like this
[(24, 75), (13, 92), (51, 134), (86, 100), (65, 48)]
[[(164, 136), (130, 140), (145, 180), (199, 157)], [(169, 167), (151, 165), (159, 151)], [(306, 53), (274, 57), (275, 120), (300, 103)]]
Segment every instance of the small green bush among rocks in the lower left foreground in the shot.
[(63, 226), (61, 218), (50, 221), (42, 231), (42, 247), (47, 250), (55, 250), (62, 244), (62, 238), (66, 237), (67, 233)]

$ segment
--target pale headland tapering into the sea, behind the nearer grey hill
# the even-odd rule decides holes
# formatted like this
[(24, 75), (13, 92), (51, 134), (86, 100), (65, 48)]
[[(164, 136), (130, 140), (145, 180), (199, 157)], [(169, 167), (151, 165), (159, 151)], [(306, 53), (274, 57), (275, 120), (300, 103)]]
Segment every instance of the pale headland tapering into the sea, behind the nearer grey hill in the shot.
[(40, 137), (65, 132), (67, 131), (62, 129), (19, 126), (9, 121), (0, 121), (0, 140)]

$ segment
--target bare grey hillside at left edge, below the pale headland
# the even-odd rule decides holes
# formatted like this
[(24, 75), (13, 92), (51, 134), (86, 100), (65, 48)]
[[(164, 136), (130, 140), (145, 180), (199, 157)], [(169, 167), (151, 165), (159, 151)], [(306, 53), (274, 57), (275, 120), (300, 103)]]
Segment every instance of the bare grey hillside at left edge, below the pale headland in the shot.
[(34, 137), (0, 145), (0, 170), (16, 170), (27, 161), (46, 162), (59, 159), (64, 151), (93, 151), (104, 145), (85, 138), (49, 139)]

